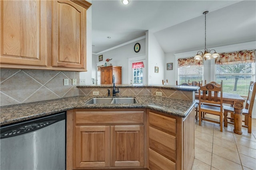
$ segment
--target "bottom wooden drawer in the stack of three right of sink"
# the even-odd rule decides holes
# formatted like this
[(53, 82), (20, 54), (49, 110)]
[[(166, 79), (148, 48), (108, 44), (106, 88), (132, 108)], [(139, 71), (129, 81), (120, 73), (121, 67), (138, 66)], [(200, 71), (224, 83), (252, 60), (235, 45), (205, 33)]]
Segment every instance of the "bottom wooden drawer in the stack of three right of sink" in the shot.
[(148, 163), (150, 170), (175, 170), (176, 164), (154, 150), (148, 149)]

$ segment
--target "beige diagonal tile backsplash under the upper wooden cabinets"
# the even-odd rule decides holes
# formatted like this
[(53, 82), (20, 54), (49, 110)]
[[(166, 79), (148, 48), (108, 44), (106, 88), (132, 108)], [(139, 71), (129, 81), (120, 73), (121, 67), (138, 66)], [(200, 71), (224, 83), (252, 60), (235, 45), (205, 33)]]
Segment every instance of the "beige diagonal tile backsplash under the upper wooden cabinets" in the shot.
[[(68, 79), (68, 86), (63, 85)], [(78, 96), (79, 72), (0, 69), (0, 105)]]

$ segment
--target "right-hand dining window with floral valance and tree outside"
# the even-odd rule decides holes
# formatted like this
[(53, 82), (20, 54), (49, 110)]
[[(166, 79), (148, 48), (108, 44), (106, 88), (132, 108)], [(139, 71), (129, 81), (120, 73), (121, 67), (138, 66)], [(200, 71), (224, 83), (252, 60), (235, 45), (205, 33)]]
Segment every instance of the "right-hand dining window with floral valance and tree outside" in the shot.
[(248, 95), (255, 81), (255, 49), (222, 53), (215, 61), (215, 81), (223, 81), (223, 92)]

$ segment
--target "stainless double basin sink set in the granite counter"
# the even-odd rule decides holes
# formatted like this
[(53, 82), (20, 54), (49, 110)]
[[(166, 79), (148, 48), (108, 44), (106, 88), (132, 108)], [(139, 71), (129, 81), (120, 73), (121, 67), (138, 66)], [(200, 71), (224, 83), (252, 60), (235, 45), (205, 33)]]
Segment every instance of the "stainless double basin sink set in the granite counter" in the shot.
[(134, 97), (92, 98), (86, 104), (132, 104), (138, 103)]

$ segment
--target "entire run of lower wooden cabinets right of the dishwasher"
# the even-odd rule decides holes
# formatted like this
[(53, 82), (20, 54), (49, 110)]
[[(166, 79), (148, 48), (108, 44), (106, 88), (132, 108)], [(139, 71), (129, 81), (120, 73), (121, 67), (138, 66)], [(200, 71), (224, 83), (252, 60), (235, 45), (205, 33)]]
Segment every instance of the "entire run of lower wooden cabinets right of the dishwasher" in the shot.
[(150, 109), (67, 111), (66, 169), (191, 169), (194, 109), (185, 118)]

